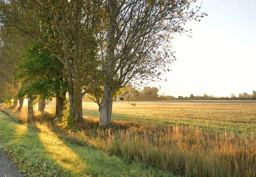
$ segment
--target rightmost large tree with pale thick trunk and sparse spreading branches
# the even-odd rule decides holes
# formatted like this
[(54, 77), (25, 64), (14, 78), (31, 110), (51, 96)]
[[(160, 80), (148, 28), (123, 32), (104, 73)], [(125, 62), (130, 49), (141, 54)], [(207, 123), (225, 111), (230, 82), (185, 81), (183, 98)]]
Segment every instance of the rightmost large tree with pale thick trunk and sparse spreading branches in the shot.
[[(97, 89), (99, 125), (111, 124), (113, 95), (123, 86), (140, 87), (159, 80), (176, 60), (170, 50), (172, 34), (187, 32), (181, 24), (198, 20), (194, 0), (108, 0), (105, 20), (96, 30), (102, 60), (103, 87)], [(107, 23), (106, 23), (107, 21)], [(105, 32), (107, 31), (107, 33)], [(96, 78), (93, 78), (96, 80)], [(94, 92), (95, 93), (95, 92)]]

